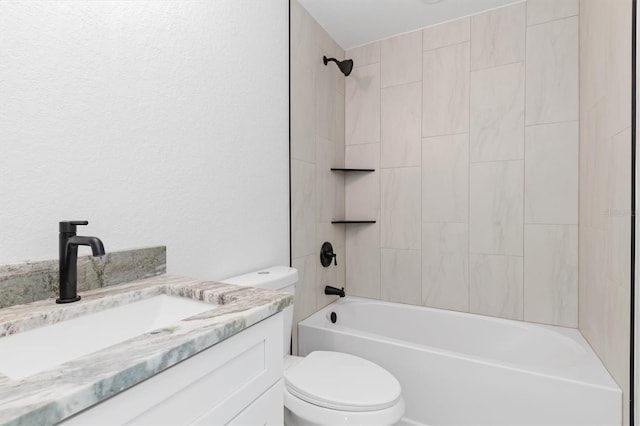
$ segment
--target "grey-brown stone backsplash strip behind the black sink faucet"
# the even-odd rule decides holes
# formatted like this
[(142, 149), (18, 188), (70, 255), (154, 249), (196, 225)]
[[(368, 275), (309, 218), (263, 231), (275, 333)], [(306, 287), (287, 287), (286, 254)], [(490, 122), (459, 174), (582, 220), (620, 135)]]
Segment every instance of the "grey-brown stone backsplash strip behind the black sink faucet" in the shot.
[[(78, 256), (78, 291), (107, 287), (164, 274), (167, 248), (147, 247)], [(57, 297), (58, 259), (0, 265), (0, 308)]]

